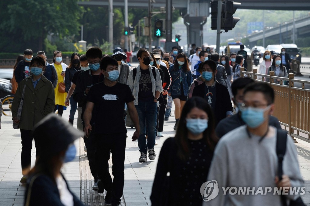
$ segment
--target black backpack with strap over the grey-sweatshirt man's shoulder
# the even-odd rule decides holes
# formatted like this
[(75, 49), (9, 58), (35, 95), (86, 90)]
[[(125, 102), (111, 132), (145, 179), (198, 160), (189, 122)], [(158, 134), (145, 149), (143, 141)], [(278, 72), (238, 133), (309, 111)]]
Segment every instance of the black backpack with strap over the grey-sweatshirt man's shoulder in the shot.
[[(277, 150), (277, 157), (278, 157), (278, 177), (279, 181), (282, 180), (283, 168), (282, 168), (282, 161), (283, 157), (286, 152), (286, 140), (287, 140), (287, 133), (283, 130), (277, 130), (277, 143), (276, 143), (276, 150)], [(281, 195), (281, 201), (283, 206), (305, 206), (303, 200), (299, 196), (296, 200), (290, 200), (290, 204), (286, 204), (286, 196)]]

